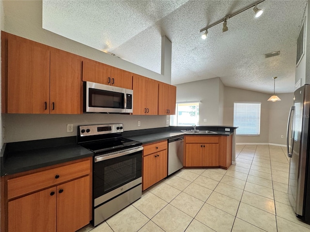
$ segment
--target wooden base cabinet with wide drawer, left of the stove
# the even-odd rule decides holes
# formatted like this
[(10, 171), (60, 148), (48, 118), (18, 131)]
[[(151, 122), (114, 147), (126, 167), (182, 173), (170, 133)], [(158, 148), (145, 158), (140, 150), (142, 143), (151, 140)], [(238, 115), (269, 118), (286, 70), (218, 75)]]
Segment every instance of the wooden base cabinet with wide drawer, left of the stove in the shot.
[(74, 232), (89, 224), (91, 164), (92, 158), (85, 158), (6, 176), (7, 226), (1, 231)]

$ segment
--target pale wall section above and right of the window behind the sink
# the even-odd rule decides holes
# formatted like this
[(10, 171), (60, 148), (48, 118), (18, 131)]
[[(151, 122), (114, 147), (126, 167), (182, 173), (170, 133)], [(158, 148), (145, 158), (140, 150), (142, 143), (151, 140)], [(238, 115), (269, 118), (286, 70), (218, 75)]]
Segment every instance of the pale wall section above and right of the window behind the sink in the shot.
[[(177, 102), (201, 101), (199, 104), (199, 125), (222, 125), (219, 115), (219, 85), (221, 80), (216, 77), (207, 80), (193, 81), (176, 85)], [(207, 122), (203, 122), (206, 118)]]

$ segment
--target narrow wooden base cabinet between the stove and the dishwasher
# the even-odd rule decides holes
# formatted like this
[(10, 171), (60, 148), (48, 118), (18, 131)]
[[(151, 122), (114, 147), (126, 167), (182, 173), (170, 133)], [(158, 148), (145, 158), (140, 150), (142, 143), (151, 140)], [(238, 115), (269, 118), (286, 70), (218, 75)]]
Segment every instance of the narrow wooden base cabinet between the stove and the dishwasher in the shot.
[(168, 174), (167, 141), (143, 147), (142, 190), (149, 188)]

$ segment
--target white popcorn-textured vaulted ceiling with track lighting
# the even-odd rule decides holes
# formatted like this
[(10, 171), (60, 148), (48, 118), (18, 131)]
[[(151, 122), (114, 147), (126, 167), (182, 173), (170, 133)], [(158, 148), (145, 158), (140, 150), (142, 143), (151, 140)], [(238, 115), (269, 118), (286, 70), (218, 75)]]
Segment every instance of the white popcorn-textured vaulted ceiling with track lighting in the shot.
[[(64, 37), (160, 73), (161, 36), (172, 42), (171, 84), (220, 77), (225, 86), (294, 92), (296, 41), (307, 0), (43, 0), (43, 25)], [(280, 55), (264, 58), (264, 54)]]

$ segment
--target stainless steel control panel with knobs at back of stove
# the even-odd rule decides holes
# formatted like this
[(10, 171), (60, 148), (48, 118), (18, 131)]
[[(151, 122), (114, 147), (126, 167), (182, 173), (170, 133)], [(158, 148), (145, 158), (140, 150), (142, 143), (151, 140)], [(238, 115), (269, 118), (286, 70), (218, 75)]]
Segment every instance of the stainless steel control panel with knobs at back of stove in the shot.
[(79, 136), (91, 136), (109, 133), (124, 132), (123, 124), (100, 124), (100, 125), (86, 125), (78, 126)]

